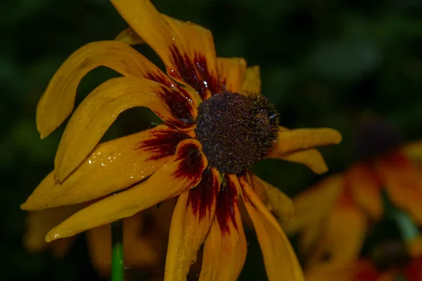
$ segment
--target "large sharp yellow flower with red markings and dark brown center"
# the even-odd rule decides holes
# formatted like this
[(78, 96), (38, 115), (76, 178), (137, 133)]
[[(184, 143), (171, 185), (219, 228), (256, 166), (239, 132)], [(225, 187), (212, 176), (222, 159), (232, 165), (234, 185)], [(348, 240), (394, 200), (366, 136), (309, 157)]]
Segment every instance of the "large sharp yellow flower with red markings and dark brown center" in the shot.
[[(83, 46), (63, 63), (37, 108), (44, 138), (70, 115), (79, 81), (99, 65), (123, 77), (98, 86), (77, 107), (58, 147), (55, 169), (22, 205), (39, 210), (97, 200), (53, 228), (46, 240), (70, 237), (179, 195), (172, 216), (165, 280), (186, 280), (204, 244), (200, 280), (236, 280), (247, 244), (245, 205), (269, 280), (302, 280), (288, 238), (269, 209), (292, 214), (285, 195), (250, 174), (264, 157), (326, 171), (313, 147), (339, 143), (333, 129), (279, 127), (260, 95), (259, 67), (243, 58), (216, 58), (212, 34), (162, 15), (147, 0), (113, 0), (130, 29), (120, 41)], [(146, 42), (168, 76), (128, 44)], [(98, 144), (120, 112), (150, 108), (165, 124)], [(266, 205), (257, 196), (262, 195)]]

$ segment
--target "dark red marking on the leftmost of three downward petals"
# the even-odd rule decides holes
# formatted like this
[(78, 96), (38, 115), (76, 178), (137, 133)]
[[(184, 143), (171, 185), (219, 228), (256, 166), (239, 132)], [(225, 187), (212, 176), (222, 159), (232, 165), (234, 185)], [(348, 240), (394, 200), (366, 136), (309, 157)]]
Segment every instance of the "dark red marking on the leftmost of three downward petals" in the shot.
[(218, 178), (212, 173), (210, 166), (203, 171), (202, 179), (196, 188), (191, 189), (188, 206), (192, 208), (193, 215), (201, 219), (210, 214), (211, 207), (217, 200), (219, 188)]

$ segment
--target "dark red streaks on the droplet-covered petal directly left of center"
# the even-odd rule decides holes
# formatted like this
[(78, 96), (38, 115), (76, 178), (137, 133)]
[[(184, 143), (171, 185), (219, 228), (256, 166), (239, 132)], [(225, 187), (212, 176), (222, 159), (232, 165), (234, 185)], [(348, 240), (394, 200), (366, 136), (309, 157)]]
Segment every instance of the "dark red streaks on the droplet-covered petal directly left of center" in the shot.
[(190, 138), (186, 133), (179, 131), (153, 131), (153, 138), (139, 143), (139, 149), (152, 152), (148, 160), (158, 160), (176, 153), (177, 145)]

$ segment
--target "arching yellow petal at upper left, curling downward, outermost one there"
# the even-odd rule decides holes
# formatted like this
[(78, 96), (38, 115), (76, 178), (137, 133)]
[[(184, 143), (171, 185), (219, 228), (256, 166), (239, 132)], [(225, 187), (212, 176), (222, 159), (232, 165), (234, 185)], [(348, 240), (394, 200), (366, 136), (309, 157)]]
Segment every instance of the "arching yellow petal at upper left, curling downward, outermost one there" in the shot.
[(129, 77), (147, 77), (160, 72), (143, 55), (118, 41), (99, 41), (79, 48), (60, 66), (37, 107), (37, 129), (49, 136), (72, 112), (82, 77), (103, 65)]

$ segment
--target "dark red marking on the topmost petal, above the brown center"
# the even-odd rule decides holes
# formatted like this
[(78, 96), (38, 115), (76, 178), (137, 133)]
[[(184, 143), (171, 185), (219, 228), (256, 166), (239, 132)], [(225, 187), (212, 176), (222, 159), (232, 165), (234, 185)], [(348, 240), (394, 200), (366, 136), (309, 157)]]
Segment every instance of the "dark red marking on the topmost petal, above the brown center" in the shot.
[(218, 93), (221, 86), (217, 77), (212, 77), (207, 67), (207, 60), (203, 55), (196, 54), (194, 62), (188, 58), (186, 53), (181, 54), (176, 46), (170, 48), (174, 65), (177, 70), (168, 69), (177, 79), (185, 81), (186, 84), (191, 86), (198, 95), (205, 100), (207, 98), (207, 89), (212, 94)]

